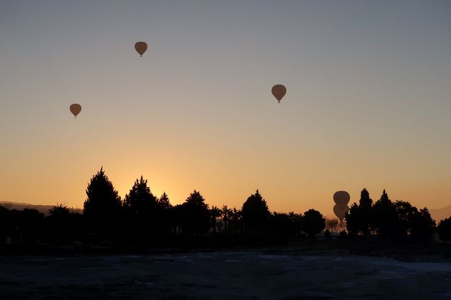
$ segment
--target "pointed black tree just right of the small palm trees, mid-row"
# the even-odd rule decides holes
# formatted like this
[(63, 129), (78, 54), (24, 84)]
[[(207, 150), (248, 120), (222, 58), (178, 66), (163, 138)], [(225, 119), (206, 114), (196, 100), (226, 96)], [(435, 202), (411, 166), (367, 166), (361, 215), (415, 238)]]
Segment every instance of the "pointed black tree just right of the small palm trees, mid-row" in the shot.
[(250, 195), (241, 209), (246, 231), (265, 231), (271, 213), (259, 191)]

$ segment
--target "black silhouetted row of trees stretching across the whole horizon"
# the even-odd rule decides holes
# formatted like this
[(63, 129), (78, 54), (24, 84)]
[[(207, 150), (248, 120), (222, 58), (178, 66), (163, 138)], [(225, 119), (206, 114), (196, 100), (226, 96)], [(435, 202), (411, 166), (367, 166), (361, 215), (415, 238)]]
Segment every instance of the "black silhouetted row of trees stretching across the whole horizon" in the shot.
[(122, 200), (103, 168), (90, 179), (86, 195), (83, 215), (71, 213), (61, 204), (53, 206), (47, 217), (33, 209), (17, 211), (0, 206), (0, 243), (220, 247), (287, 243), (314, 238), (321, 232), (327, 237), (331, 231), (348, 238), (416, 240), (428, 240), (438, 231), (443, 240), (451, 239), (451, 219), (436, 227), (426, 208), (391, 202), (385, 191), (373, 203), (364, 189), (359, 204), (350, 207), (346, 225), (325, 220), (314, 209), (303, 214), (271, 213), (258, 190), (239, 209), (209, 206), (195, 190), (182, 204), (172, 205), (166, 193), (153, 195), (143, 177), (136, 179)]

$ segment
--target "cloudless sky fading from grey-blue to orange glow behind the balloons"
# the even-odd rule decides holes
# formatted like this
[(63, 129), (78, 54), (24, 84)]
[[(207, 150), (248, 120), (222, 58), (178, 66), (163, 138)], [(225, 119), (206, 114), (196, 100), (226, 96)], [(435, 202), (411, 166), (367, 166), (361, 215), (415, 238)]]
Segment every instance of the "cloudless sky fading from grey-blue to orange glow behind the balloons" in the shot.
[(173, 204), (441, 208), (450, 115), (451, 1), (0, 1), (0, 200), (80, 208), (103, 166)]

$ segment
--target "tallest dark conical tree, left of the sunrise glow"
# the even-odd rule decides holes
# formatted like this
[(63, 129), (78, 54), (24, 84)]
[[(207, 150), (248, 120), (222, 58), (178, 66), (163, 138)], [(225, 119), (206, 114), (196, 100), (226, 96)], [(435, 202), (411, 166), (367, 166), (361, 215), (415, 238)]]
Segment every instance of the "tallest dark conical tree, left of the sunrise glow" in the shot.
[(119, 197), (103, 167), (91, 178), (86, 188), (83, 215), (90, 230), (108, 233), (119, 227), (121, 197)]

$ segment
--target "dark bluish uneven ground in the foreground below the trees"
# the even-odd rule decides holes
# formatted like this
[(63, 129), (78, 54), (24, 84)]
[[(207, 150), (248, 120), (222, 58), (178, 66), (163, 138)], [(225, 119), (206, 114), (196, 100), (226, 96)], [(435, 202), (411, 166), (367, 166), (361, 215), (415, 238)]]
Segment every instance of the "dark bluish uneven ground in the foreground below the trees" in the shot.
[(451, 261), (264, 250), (0, 256), (0, 299), (451, 299)]

